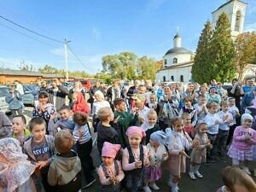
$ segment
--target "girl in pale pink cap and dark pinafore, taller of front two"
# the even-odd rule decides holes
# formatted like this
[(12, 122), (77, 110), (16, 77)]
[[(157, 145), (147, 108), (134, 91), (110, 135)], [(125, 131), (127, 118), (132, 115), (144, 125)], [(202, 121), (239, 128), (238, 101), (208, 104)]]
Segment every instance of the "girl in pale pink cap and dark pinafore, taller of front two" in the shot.
[(123, 152), (123, 170), (125, 171), (125, 189), (127, 192), (143, 190), (143, 170), (149, 166), (148, 148), (141, 145), (146, 136), (143, 128), (131, 126), (126, 131), (129, 146)]

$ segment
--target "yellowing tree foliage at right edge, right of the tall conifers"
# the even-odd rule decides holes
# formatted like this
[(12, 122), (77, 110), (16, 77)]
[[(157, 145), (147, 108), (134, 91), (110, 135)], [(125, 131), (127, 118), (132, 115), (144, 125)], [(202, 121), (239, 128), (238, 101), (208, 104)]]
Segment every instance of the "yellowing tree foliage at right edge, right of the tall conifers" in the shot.
[(238, 78), (241, 79), (247, 63), (256, 64), (256, 33), (244, 32), (237, 36), (235, 42), (235, 65)]

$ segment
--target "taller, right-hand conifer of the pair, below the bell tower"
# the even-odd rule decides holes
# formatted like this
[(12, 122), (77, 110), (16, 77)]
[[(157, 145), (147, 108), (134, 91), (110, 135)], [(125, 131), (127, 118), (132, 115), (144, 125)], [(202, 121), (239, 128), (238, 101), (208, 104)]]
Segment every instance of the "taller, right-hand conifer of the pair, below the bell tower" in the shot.
[(212, 33), (208, 56), (211, 60), (211, 66), (209, 67), (211, 79), (229, 82), (235, 77), (236, 67), (233, 63), (235, 47), (231, 38), (230, 22), (228, 16), (224, 13), (218, 17)]

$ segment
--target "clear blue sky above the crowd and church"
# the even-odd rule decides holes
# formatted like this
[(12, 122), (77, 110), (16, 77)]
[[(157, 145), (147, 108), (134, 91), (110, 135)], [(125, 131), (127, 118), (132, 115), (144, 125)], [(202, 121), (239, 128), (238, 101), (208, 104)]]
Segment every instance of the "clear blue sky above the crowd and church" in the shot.
[[(225, 0), (0, 0), (0, 16), (63, 42), (68, 70), (94, 74), (102, 56), (123, 51), (160, 61), (179, 33), (183, 47), (195, 51), (212, 11)], [(256, 31), (256, 1), (247, 3), (244, 31)], [(28, 32), (0, 18), (0, 67), (18, 69), (20, 61), (36, 69), (48, 64), (65, 69), (64, 44)]]

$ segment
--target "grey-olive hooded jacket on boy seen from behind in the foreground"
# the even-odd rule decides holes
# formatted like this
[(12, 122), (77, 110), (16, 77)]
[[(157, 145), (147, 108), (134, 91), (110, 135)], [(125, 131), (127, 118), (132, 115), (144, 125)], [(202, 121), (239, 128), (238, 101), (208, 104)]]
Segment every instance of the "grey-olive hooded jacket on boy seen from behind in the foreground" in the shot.
[(55, 160), (49, 166), (48, 183), (50, 185), (67, 184), (81, 172), (81, 162), (78, 154), (74, 151), (72, 151), (72, 154), (72, 157), (55, 155)]

